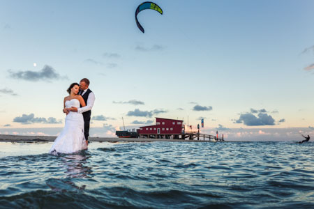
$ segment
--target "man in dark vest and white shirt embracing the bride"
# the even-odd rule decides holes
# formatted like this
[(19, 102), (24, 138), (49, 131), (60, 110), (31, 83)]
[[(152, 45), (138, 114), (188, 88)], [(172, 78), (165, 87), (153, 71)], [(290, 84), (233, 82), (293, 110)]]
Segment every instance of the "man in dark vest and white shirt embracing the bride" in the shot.
[(83, 114), (84, 118), (84, 135), (86, 139), (86, 145), (89, 144), (89, 123), (91, 122), (91, 108), (94, 106), (95, 95), (89, 89), (89, 79), (84, 78), (80, 81), (80, 91), (79, 94), (82, 95), (82, 98), (85, 101), (85, 107), (71, 107), (70, 111), (76, 111), (77, 113)]

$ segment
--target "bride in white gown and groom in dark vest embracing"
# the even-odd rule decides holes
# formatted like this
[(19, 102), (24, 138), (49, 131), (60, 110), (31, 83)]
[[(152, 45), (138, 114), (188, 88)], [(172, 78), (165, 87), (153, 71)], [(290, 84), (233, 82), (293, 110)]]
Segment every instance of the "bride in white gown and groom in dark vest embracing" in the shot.
[(67, 91), (69, 95), (63, 100), (66, 123), (50, 148), (49, 153), (53, 155), (75, 153), (88, 146), (91, 108), (95, 102), (95, 95), (89, 89), (89, 79), (71, 84)]

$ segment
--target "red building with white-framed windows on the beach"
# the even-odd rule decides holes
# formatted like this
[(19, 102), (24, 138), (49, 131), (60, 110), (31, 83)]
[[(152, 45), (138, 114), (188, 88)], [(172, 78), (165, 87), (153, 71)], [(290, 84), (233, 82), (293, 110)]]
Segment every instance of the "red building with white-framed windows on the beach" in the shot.
[(140, 136), (151, 137), (150, 135), (154, 135), (156, 138), (176, 139), (184, 133), (184, 125), (181, 120), (156, 118), (156, 125), (142, 126), (137, 133)]

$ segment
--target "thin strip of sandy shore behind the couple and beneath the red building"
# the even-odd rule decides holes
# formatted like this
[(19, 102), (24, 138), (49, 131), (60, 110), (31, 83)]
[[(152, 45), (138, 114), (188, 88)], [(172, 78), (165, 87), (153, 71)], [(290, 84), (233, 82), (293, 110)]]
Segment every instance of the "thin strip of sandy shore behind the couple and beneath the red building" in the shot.
[[(0, 142), (52, 142), (57, 137), (52, 136), (23, 136), (0, 134)], [(180, 142), (214, 142), (203, 140), (182, 140), (182, 139), (142, 139), (142, 138), (114, 138), (114, 137), (89, 137), (89, 141), (98, 142), (154, 142), (154, 141), (180, 141)]]

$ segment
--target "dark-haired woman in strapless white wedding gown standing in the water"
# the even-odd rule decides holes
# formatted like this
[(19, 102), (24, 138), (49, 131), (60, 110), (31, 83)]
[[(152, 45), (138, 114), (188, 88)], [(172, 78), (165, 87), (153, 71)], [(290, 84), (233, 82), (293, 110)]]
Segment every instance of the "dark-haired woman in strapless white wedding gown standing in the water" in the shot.
[[(82, 96), (77, 94), (80, 91), (79, 84), (70, 84), (67, 91), (69, 95), (64, 98), (64, 110), (70, 107), (79, 108), (80, 105), (82, 107), (86, 106)], [(66, 115), (66, 124), (57, 139), (54, 140), (54, 144), (52, 144), (49, 153), (52, 155), (57, 155), (58, 153), (74, 153), (86, 148), (83, 115), (70, 111), (69, 114)]]

